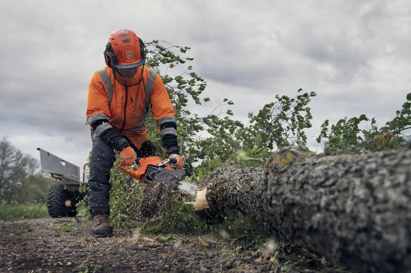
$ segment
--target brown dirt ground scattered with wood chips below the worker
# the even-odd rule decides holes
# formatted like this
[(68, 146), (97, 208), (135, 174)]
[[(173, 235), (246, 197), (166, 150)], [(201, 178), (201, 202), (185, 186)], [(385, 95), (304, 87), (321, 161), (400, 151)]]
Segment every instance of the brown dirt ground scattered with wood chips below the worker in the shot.
[[(299, 266), (284, 257), (274, 260), (280, 254), (270, 247), (244, 249), (211, 234), (114, 229), (112, 237), (94, 238), (86, 223), (80, 217), (0, 222), (0, 273), (345, 272), (325, 261), (303, 259)], [(289, 246), (284, 253), (294, 251), (300, 250)]]

